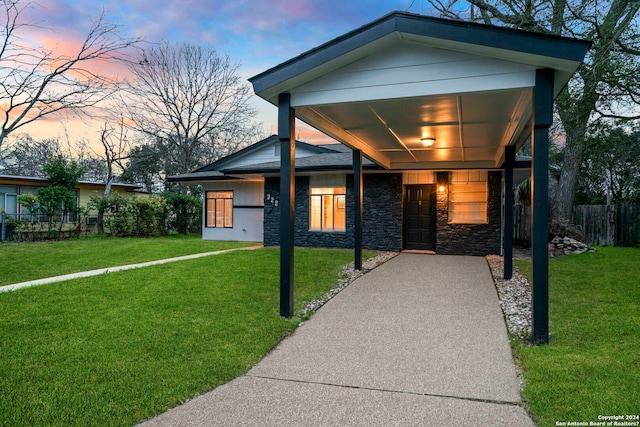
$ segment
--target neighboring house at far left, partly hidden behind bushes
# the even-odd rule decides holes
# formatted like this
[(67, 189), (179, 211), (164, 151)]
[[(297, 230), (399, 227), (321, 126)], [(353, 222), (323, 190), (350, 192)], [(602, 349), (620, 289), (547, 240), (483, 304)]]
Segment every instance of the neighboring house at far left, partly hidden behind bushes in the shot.
[[(46, 178), (0, 175), (0, 210), (4, 210), (5, 215), (18, 220), (30, 221), (31, 213), (18, 203), (18, 196), (21, 194), (37, 194), (38, 190), (50, 185)], [(75, 189), (77, 206), (86, 207), (90, 198), (94, 194), (103, 194), (105, 184), (98, 182), (80, 181)], [(133, 184), (112, 184), (111, 193), (133, 194), (144, 193), (141, 185)], [(83, 228), (95, 231), (97, 212), (89, 212), (89, 216), (82, 219)], [(66, 224), (77, 224), (78, 218), (75, 215), (67, 215), (63, 221)], [(65, 228), (69, 228), (69, 226)]]

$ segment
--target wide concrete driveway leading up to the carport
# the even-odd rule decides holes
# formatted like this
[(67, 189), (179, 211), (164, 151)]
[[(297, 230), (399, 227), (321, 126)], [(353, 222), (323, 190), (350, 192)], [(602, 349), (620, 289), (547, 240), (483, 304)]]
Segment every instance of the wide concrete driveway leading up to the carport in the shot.
[(484, 258), (401, 254), (152, 426), (533, 426)]

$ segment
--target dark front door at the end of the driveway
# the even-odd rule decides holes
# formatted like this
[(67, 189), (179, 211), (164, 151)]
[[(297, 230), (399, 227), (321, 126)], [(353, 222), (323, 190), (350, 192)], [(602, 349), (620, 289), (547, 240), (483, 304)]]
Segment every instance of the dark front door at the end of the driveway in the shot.
[(436, 186), (408, 185), (404, 200), (404, 248), (436, 249)]

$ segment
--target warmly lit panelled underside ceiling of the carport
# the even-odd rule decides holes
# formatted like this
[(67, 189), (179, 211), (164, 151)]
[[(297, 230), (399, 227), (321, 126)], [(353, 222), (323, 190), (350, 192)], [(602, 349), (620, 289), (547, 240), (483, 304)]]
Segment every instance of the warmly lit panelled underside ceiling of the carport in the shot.
[(530, 90), (508, 90), (305, 106), (298, 115), (395, 169), (491, 168), (513, 142), (513, 111), (530, 101)]

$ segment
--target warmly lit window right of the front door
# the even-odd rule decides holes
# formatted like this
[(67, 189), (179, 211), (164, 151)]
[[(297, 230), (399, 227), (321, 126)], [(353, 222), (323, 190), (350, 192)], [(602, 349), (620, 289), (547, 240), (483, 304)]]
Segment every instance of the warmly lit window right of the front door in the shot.
[(457, 171), (449, 175), (449, 223), (487, 224), (489, 196), (486, 171)]

